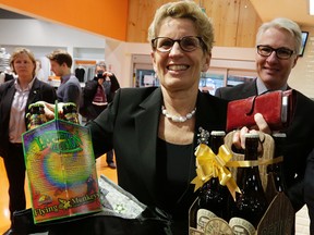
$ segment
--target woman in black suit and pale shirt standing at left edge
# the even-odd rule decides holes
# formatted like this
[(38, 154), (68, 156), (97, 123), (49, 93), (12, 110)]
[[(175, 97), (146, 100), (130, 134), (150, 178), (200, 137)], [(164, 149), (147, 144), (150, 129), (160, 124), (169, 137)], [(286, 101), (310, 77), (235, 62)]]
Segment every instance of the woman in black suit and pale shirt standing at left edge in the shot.
[[(10, 59), (10, 66), (17, 78), (0, 85), (0, 156), (9, 180), (9, 210), (13, 212), (26, 207), (24, 183), (25, 162), (22, 147), (22, 134), (26, 131), (28, 106), (44, 100), (55, 102), (55, 88), (35, 75), (36, 61), (26, 48), (16, 48)], [(14, 226), (4, 233), (14, 234)]]

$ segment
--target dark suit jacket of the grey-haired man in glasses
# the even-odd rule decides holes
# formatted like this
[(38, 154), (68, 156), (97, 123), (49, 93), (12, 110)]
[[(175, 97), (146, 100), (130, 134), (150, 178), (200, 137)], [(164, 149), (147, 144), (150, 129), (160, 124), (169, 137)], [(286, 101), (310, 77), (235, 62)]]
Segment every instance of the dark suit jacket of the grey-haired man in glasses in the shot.
[[(224, 87), (216, 90), (215, 96), (238, 100), (257, 95), (256, 79), (235, 87)], [(271, 107), (269, 107), (271, 109)], [(304, 205), (303, 177), (306, 158), (314, 148), (314, 102), (297, 91), (295, 112), (291, 125), (283, 129), (287, 134), (285, 148), (285, 178), (288, 186), (288, 196), (295, 211)]]

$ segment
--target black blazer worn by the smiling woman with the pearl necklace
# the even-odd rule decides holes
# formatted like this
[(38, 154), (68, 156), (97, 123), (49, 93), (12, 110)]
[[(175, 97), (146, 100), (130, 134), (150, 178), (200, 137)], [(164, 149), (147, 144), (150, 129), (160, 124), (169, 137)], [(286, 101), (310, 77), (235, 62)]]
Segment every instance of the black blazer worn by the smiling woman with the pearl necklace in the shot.
[[(161, 104), (160, 88), (121, 88), (108, 108), (87, 124), (95, 154), (100, 156), (114, 148), (119, 185), (149, 206), (158, 205), (159, 200), (156, 148)], [(194, 150), (198, 127), (208, 132), (225, 129), (226, 108), (227, 101), (198, 92), (190, 175), (186, 188), (182, 190), (182, 200), (186, 200), (182, 211), (186, 220), (189, 207), (197, 195), (193, 193), (194, 185), (190, 182), (196, 175)]]

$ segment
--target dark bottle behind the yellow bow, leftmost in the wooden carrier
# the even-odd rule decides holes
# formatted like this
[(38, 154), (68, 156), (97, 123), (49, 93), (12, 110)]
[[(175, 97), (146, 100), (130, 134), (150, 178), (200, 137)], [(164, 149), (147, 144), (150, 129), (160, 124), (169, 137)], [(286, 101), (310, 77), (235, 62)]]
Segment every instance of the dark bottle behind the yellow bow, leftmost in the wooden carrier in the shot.
[[(219, 131), (210, 133), (209, 146), (215, 154), (218, 154), (219, 147), (224, 145), (225, 135), (225, 132)], [(204, 231), (206, 223), (212, 218), (226, 219), (228, 194), (228, 188), (220, 185), (218, 177), (212, 177), (202, 186), (195, 210), (198, 231)]]

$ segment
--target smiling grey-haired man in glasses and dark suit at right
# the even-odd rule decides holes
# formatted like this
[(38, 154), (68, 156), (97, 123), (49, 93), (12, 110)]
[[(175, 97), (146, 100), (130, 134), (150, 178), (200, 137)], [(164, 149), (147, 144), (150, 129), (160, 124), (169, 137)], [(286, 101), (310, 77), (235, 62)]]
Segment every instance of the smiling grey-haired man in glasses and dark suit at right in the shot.
[[(215, 95), (227, 100), (237, 100), (267, 90), (291, 89), (288, 78), (298, 62), (301, 35), (298, 24), (288, 18), (264, 23), (256, 35), (255, 61), (258, 77), (235, 87), (218, 88)], [(295, 92), (294, 115), (291, 125), (282, 132), (287, 134), (283, 149), (287, 193), (297, 212), (304, 205), (306, 157), (314, 147), (314, 102), (300, 91)]]

